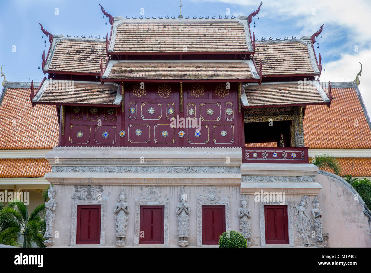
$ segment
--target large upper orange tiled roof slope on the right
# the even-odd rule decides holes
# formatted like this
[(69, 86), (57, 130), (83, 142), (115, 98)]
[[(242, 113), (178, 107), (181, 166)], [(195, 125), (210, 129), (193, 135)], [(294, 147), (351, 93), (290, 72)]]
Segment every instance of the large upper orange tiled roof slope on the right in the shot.
[(311, 149), (371, 148), (371, 130), (359, 102), (357, 90), (332, 88), (331, 107), (307, 106), (304, 146)]

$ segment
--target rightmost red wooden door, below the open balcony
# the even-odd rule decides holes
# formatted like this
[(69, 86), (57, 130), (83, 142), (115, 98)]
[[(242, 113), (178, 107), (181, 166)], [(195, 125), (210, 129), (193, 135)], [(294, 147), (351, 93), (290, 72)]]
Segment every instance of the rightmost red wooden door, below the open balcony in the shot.
[(289, 229), (287, 220), (287, 206), (266, 205), (265, 216), (265, 243), (288, 244)]

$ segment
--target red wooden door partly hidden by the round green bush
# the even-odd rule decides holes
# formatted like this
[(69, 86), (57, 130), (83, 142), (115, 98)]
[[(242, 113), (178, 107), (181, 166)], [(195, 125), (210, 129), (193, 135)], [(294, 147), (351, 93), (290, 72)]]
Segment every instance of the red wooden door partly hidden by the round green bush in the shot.
[(225, 206), (202, 206), (202, 244), (219, 244), (219, 235), (225, 231)]

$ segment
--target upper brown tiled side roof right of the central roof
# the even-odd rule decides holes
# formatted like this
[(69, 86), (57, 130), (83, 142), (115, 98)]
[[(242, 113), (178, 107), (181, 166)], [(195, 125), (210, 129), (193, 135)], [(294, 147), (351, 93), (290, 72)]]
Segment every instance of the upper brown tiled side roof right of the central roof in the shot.
[(262, 61), (262, 74), (265, 77), (277, 75), (318, 75), (310, 37), (299, 40), (256, 41), (255, 62)]

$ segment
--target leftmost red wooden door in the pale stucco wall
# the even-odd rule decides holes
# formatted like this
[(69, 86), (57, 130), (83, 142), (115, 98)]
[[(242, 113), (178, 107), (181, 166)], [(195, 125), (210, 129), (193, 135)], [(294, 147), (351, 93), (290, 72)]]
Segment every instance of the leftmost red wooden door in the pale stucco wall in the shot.
[(101, 243), (101, 205), (77, 206), (76, 244)]

